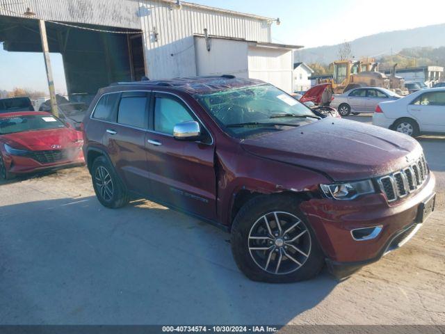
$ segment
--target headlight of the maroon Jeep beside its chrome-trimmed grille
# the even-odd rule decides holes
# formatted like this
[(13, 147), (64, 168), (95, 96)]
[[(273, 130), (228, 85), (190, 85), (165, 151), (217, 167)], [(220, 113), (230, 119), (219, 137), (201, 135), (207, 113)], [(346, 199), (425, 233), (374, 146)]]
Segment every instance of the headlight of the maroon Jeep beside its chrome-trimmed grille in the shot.
[(320, 184), (320, 189), (327, 198), (334, 200), (353, 200), (366, 193), (375, 193), (371, 180), (337, 184)]

